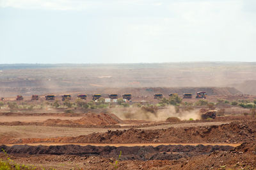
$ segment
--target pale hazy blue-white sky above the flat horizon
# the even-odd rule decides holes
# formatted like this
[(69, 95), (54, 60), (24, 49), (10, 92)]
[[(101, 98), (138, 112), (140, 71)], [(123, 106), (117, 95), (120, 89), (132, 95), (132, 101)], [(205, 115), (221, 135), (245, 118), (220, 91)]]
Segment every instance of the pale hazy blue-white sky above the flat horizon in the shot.
[(256, 1), (0, 0), (0, 64), (183, 61), (256, 61)]

